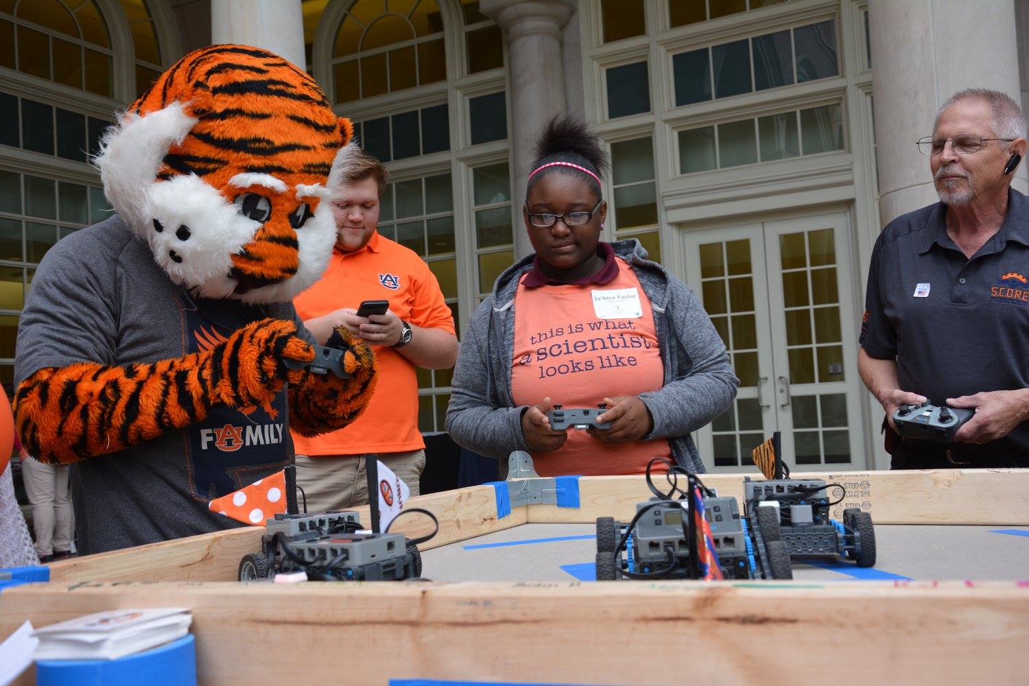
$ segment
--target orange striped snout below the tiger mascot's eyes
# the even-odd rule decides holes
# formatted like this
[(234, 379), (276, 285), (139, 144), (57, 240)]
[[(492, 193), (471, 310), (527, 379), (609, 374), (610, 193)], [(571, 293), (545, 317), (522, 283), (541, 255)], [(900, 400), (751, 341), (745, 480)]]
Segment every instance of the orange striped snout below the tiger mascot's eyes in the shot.
[(233, 255), (228, 275), (238, 282), (239, 294), (278, 284), (296, 275), (299, 242), (286, 216), (273, 215), (254, 234), (253, 241)]

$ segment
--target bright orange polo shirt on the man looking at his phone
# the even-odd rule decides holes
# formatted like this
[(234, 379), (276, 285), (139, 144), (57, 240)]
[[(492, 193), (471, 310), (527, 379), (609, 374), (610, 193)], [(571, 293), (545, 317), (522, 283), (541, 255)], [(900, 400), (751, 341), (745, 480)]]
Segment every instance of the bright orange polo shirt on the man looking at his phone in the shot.
[[(321, 280), (293, 300), (308, 320), (362, 300), (389, 300), (397, 317), (415, 326), (454, 333), (454, 317), (429, 265), (415, 251), (376, 231), (352, 253), (335, 250)], [(417, 334), (416, 334), (417, 335)], [(306, 438), (293, 434), (296, 453), (360, 455), (402, 453), (425, 447), (418, 430), (418, 377), (415, 365), (392, 348), (374, 347), (379, 381), (371, 401), (353, 424)]]

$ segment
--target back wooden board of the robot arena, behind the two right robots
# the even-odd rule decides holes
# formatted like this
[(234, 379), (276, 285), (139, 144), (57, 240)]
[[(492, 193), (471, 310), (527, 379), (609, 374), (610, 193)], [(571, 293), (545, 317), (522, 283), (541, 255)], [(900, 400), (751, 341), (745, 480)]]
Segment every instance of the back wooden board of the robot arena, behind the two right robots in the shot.
[[(701, 479), (718, 495), (741, 500), (744, 476), (760, 478), (759, 474), (703, 474)], [(846, 498), (831, 510), (836, 519), (843, 518), (844, 507), (859, 507), (877, 523), (1029, 522), (1029, 469), (819, 472), (793, 477), (842, 483)], [(828, 493), (831, 500), (842, 495), (835, 488)], [(578, 509), (530, 505), (528, 517), (530, 523), (595, 521), (601, 516), (628, 520), (636, 504), (651, 496), (642, 476), (583, 476), (579, 479)]]

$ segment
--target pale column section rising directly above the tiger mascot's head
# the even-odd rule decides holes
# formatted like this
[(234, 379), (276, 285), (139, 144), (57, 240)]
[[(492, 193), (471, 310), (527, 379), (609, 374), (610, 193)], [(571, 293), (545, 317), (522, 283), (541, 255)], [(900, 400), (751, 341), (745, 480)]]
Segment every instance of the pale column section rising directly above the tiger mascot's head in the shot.
[(211, 0), (211, 42), (261, 47), (307, 69), (300, 0)]

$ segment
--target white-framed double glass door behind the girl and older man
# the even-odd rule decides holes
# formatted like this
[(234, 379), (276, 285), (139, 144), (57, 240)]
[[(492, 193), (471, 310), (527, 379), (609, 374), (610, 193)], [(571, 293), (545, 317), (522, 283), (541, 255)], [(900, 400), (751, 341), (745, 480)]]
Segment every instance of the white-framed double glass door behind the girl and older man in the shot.
[(683, 238), (687, 282), (740, 377), (697, 433), (708, 469), (753, 469), (750, 449), (774, 431), (790, 468), (864, 468), (847, 215)]

